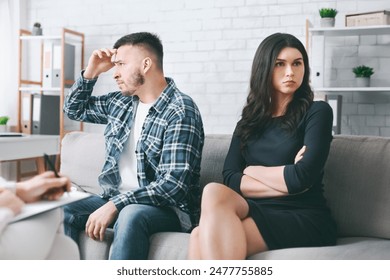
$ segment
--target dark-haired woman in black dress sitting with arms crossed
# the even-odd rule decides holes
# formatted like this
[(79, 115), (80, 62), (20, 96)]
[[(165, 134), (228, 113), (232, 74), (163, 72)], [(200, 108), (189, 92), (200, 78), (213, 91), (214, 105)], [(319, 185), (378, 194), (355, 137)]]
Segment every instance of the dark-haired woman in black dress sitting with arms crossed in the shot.
[(322, 183), (333, 114), (327, 103), (313, 101), (309, 76), (307, 53), (294, 36), (276, 33), (260, 44), (224, 185), (203, 191), (190, 259), (335, 244)]

